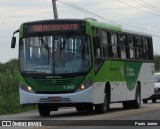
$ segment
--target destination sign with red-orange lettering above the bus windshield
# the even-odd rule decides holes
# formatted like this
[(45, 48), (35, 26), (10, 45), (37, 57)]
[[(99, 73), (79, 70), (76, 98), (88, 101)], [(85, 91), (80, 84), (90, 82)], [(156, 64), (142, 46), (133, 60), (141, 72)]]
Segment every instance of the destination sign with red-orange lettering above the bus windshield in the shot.
[(39, 32), (84, 32), (84, 24), (80, 23), (50, 23), (50, 24), (31, 24), (25, 26), (25, 33), (39, 33)]

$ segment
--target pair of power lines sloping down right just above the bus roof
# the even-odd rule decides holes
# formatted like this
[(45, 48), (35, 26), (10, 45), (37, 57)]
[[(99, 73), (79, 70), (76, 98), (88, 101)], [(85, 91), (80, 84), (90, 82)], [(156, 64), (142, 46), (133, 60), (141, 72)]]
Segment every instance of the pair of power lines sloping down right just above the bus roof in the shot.
[(154, 34), (152, 34), (152, 35), (158, 36), (158, 37), (160, 36), (159, 32), (157, 32), (157, 31), (148, 30), (148, 29), (145, 29), (145, 28), (137, 27), (137, 26), (134, 26), (134, 25), (130, 25), (130, 24), (127, 24), (127, 23), (122, 23), (122, 22), (119, 22), (119, 21), (115, 21), (113, 19), (108, 19), (108, 18), (99, 16), (99, 15), (97, 15), (95, 13), (92, 13), (92, 12), (90, 12), (90, 11), (88, 11), (88, 10), (86, 10), (86, 9), (84, 9), (84, 8), (82, 8), (82, 7), (80, 7), (80, 6), (76, 5), (76, 4), (68, 1), (68, 0), (59, 0), (58, 2), (60, 2), (62, 4), (65, 4), (65, 5), (69, 6), (69, 7), (72, 7), (74, 9), (78, 10), (78, 11), (81, 11), (81, 12), (85, 13), (85, 14), (92, 15), (94, 17), (102, 19), (103, 21), (107, 21), (107, 22), (109, 21), (109, 22), (117, 24), (117, 25), (120, 25), (119, 23), (121, 23), (121, 25), (129, 26), (129, 27), (136, 28), (136, 29), (143, 30), (143, 31), (147, 31), (147, 32), (153, 32)]

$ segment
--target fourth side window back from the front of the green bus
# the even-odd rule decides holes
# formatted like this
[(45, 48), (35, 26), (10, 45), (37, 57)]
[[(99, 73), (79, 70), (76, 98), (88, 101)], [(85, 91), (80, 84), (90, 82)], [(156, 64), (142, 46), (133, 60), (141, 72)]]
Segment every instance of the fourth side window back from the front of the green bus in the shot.
[(124, 34), (119, 34), (119, 46), (121, 59), (126, 59), (126, 36)]

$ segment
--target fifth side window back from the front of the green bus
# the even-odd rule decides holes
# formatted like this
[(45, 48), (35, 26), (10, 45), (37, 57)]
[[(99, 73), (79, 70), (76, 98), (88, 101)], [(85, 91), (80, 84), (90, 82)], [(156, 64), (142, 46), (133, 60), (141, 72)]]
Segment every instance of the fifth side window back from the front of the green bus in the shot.
[(133, 36), (128, 35), (127, 36), (127, 44), (128, 44), (128, 53), (129, 53), (129, 59), (134, 59), (135, 58), (135, 51), (134, 51), (134, 46), (133, 46)]

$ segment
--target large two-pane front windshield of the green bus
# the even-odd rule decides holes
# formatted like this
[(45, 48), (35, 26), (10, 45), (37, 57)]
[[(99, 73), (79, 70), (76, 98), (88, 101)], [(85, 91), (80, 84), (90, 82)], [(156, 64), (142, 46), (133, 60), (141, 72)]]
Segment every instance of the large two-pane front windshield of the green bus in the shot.
[(23, 38), (19, 47), (23, 73), (71, 74), (91, 67), (89, 38), (62, 35)]

